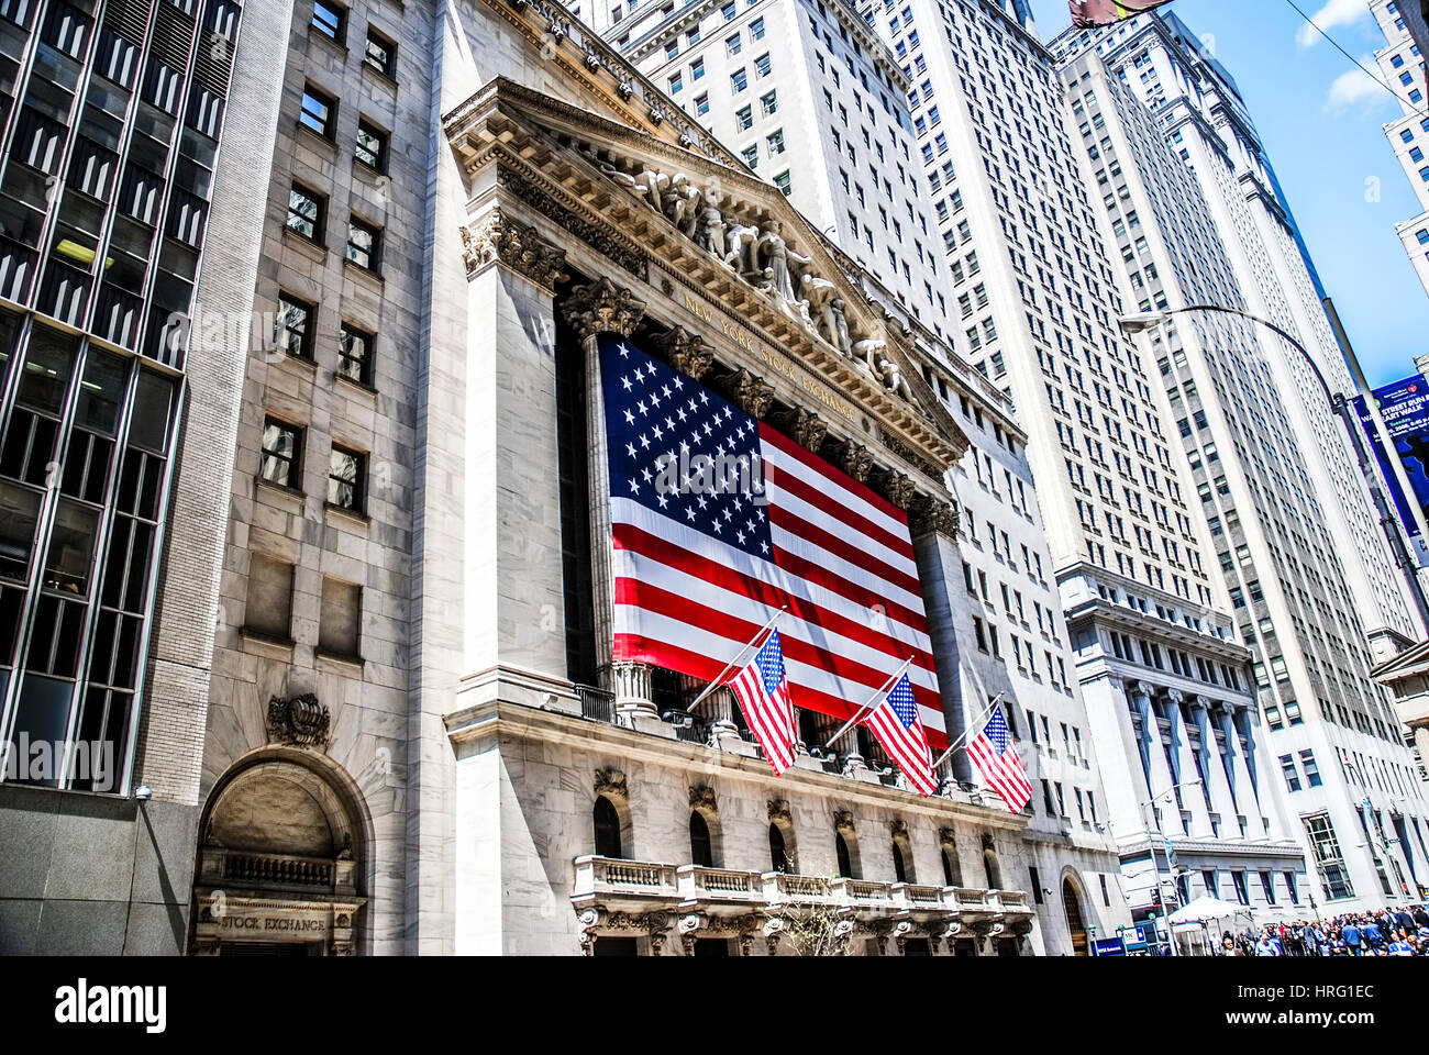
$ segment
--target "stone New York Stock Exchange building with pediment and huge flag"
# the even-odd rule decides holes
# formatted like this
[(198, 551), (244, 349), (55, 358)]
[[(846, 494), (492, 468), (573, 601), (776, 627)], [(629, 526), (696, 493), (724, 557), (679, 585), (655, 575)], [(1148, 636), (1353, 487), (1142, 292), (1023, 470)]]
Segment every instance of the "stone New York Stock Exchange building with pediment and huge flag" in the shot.
[[(920, 793), (866, 726), (825, 746), (913, 653), (935, 755), (986, 712), (947, 482), (950, 406), (1006, 417), (997, 393), (562, 9), (231, 10), (124, 795), (3, 786), (33, 851), (7, 949), (1020, 956), (1115, 932), (1105, 826), (1010, 812), (962, 755)], [(690, 487), (692, 449), (770, 452), (767, 503)], [(823, 556), (759, 578), (793, 516)], [(692, 706), (767, 620), (779, 776), (729, 689)]]

